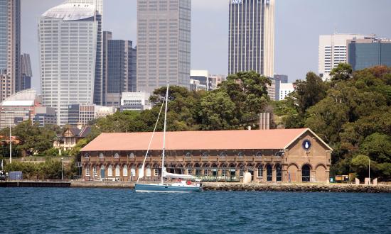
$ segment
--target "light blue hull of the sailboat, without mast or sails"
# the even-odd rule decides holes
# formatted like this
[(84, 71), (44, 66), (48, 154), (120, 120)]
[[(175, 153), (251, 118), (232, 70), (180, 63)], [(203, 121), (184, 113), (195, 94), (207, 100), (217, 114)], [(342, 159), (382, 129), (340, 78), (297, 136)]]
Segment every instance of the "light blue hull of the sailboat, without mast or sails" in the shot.
[(183, 186), (175, 184), (136, 184), (134, 191), (163, 192), (163, 193), (191, 193), (202, 191), (200, 186)]

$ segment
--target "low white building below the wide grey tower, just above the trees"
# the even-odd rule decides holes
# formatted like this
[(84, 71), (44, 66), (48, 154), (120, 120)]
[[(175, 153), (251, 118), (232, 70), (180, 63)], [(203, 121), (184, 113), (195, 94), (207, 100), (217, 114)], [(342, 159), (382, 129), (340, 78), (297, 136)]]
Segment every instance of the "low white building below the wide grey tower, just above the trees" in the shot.
[(151, 109), (149, 93), (123, 92), (121, 98), (121, 111), (144, 111)]

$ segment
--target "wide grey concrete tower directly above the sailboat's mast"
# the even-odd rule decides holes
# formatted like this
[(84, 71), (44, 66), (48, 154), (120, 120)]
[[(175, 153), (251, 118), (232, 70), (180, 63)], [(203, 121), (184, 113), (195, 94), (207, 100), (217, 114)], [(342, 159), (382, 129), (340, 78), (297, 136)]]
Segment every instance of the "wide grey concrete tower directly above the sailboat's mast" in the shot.
[(137, 91), (189, 87), (191, 0), (137, 0)]

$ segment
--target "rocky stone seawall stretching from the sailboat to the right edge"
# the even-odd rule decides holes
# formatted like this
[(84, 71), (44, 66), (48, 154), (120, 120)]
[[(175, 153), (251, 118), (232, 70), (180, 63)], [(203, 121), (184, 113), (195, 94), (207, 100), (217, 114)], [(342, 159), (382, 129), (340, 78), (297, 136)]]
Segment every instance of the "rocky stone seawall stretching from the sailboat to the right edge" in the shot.
[(241, 184), (203, 183), (204, 191), (296, 191), (296, 192), (355, 192), (391, 193), (390, 185), (364, 184)]

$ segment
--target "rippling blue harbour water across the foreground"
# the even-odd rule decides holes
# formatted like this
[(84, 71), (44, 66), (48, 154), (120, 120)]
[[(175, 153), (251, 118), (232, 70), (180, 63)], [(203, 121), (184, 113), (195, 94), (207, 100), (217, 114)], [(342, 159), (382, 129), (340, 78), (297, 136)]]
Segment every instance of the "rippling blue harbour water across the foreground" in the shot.
[(391, 233), (391, 194), (0, 188), (1, 233)]

